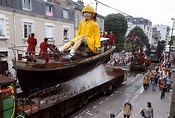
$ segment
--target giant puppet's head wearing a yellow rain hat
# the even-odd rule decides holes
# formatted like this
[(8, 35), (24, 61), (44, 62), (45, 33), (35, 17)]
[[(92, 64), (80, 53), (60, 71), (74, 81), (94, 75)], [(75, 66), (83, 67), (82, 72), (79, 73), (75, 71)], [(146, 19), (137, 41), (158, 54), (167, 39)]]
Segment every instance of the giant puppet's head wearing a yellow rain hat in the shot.
[(82, 9), (82, 13), (84, 18), (87, 20), (92, 19), (96, 14), (96, 12), (94, 11), (94, 8), (90, 5), (87, 5), (86, 7), (84, 7)]

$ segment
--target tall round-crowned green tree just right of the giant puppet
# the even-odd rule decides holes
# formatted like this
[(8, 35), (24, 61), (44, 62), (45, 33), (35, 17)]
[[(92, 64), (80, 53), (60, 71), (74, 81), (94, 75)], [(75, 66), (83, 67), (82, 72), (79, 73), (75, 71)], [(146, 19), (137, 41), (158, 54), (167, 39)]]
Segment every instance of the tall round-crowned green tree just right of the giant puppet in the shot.
[(125, 34), (128, 28), (125, 16), (120, 13), (107, 15), (104, 21), (104, 28), (108, 33), (110, 31), (114, 33), (116, 51), (122, 51), (125, 42)]

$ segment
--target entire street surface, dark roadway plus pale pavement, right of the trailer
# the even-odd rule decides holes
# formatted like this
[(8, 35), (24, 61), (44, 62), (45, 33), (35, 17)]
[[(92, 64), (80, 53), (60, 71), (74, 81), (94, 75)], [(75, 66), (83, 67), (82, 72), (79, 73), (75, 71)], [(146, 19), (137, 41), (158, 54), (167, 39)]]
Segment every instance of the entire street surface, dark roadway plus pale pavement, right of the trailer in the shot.
[[(156, 108), (163, 107), (169, 111), (171, 93), (167, 93), (166, 95), (166, 97), (168, 97), (164, 101), (166, 105), (161, 106), (159, 103), (161, 100), (158, 86), (155, 93), (151, 91), (151, 84), (147, 93), (143, 91), (142, 80), (145, 74), (146, 73), (140, 73), (138, 71), (128, 72), (127, 82), (113, 90), (112, 94), (108, 96), (97, 96), (91, 99), (88, 104), (70, 115), (69, 118), (109, 118), (111, 113), (113, 113), (116, 118), (123, 118), (121, 111), (123, 104), (127, 100), (133, 103), (133, 116), (131, 115), (131, 118), (141, 118), (140, 110), (146, 106), (147, 101), (154, 102), (153, 106), (156, 106)], [(158, 110), (161, 111), (161, 109)], [(155, 113), (157, 113), (157, 111), (155, 111)], [(155, 115), (154, 118), (166, 118), (168, 116), (168, 112), (162, 111), (162, 114), (157, 115), (157, 117)]]

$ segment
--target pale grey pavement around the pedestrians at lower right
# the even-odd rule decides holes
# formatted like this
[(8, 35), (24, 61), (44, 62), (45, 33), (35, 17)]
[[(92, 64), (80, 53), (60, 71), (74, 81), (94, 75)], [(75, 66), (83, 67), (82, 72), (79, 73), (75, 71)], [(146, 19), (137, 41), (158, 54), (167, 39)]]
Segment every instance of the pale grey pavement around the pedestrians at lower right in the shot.
[[(136, 97), (131, 100), (133, 111), (130, 118), (142, 118), (140, 111), (146, 106), (147, 101), (152, 103), (154, 118), (167, 118), (170, 111), (172, 93), (166, 92), (163, 99), (160, 99), (160, 93), (158, 86), (155, 92), (152, 91), (151, 84), (147, 92), (144, 92), (143, 87), (141, 87), (137, 91)], [(123, 118), (123, 112), (120, 112), (116, 118)]]

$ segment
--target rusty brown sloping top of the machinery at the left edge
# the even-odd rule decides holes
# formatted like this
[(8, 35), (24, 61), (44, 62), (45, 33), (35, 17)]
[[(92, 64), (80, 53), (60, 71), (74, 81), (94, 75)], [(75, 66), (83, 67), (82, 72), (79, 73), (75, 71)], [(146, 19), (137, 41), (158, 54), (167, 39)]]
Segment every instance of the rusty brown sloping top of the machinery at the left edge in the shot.
[(9, 77), (6, 77), (6, 76), (0, 74), (0, 86), (10, 84), (10, 83), (13, 83), (13, 82), (16, 82), (16, 80), (10, 79)]

